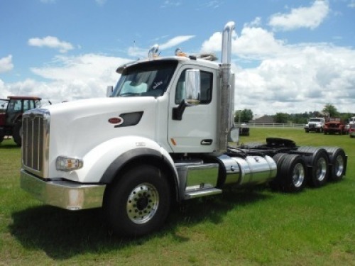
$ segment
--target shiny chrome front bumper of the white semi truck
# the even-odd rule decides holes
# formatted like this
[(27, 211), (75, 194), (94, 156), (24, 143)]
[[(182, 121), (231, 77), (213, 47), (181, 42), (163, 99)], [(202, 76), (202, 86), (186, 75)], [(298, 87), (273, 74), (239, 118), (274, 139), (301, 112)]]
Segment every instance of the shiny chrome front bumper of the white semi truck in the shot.
[(105, 184), (45, 181), (21, 170), (21, 189), (44, 204), (71, 211), (101, 207), (105, 187)]

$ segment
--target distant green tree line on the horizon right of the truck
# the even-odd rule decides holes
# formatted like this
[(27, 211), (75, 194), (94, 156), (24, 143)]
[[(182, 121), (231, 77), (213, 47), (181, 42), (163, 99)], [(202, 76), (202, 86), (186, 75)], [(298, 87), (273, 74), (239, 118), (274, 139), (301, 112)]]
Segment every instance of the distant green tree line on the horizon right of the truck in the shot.
[[(310, 111), (305, 113), (275, 113), (271, 116), (274, 123), (307, 123), (311, 117), (341, 118), (343, 121), (349, 121), (349, 118), (355, 116), (355, 113), (339, 113), (333, 104), (325, 104), (322, 111)], [(249, 123), (253, 120), (253, 111), (251, 109), (237, 110), (234, 113), (235, 123)]]

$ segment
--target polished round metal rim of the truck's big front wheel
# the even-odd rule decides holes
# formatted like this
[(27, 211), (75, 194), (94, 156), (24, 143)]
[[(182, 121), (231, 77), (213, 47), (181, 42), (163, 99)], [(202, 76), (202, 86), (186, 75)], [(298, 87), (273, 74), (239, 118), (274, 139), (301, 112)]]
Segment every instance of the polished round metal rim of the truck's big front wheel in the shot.
[(133, 223), (150, 221), (158, 210), (159, 194), (152, 184), (139, 184), (129, 194), (126, 210)]

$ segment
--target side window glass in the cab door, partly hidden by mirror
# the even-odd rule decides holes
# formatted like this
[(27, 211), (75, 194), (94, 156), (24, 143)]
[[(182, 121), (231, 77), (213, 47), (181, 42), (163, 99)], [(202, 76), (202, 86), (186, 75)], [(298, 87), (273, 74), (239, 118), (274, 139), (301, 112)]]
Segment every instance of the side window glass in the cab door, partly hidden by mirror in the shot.
[[(180, 104), (185, 96), (185, 72), (186, 70), (181, 73), (176, 85), (175, 104)], [(211, 72), (200, 71), (200, 79), (200, 104), (209, 104), (212, 100), (213, 74)]]

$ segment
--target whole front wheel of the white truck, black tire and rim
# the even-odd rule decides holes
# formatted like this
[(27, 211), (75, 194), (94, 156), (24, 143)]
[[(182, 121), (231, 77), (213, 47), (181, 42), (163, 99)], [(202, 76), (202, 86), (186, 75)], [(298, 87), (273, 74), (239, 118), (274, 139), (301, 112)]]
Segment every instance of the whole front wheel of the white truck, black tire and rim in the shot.
[(170, 210), (168, 180), (157, 167), (133, 168), (108, 185), (104, 209), (116, 235), (151, 233), (163, 226)]

